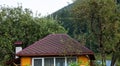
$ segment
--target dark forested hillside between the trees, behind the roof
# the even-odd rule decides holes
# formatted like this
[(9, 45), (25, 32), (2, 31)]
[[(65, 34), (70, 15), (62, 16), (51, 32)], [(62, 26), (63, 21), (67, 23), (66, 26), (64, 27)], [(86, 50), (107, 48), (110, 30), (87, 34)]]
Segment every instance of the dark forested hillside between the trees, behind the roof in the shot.
[[(68, 6), (54, 12), (53, 14), (49, 15), (48, 17), (53, 17), (54, 19), (58, 20), (62, 26), (68, 30), (68, 34), (73, 37), (74, 39), (80, 41), (84, 44), (84, 36), (88, 34), (87, 28), (85, 24), (81, 24), (79, 20), (75, 20), (71, 13), (72, 8), (74, 7), (74, 3), (69, 4)], [(77, 23), (77, 24), (76, 24)], [(92, 41), (87, 41), (86, 46), (92, 49), (94, 52), (98, 52), (96, 50), (98, 46), (94, 44)]]

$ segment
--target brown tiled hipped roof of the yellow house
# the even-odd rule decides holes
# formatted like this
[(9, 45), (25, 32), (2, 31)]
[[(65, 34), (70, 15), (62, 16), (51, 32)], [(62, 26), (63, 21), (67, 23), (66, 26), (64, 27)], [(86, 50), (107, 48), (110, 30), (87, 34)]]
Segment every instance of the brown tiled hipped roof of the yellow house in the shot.
[(67, 34), (50, 34), (36, 41), (17, 56), (93, 55), (94, 53)]

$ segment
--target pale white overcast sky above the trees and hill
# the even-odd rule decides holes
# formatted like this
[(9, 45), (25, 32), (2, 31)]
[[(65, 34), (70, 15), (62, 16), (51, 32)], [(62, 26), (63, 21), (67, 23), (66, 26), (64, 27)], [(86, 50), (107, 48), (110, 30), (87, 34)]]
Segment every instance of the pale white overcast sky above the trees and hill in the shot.
[(18, 3), (22, 3), (23, 8), (29, 8), (34, 13), (46, 16), (72, 3), (72, 0), (0, 0), (0, 5), (15, 7)]

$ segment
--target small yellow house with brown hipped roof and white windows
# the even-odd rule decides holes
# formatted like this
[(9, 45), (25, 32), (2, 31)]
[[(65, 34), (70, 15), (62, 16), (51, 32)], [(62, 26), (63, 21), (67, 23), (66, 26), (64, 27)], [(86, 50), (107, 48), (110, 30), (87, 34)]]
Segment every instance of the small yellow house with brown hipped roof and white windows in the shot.
[(20, 66), (68, 66), (82, 61), (84, 66), (95, 60), (94, 53), (67, 34), (50, 34), (16, 54)]

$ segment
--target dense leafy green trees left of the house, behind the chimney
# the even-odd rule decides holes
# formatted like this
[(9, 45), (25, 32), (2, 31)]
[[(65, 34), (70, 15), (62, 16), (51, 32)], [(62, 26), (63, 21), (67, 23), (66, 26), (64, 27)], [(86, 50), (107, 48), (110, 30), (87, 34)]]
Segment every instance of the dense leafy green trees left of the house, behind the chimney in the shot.
[(53, 33), (67, 33), (52, 18), (33, 17), (32, 11), (18, 7), (0, 7), (0, 65), (14, 58), (15, 41), (23, 48)]

